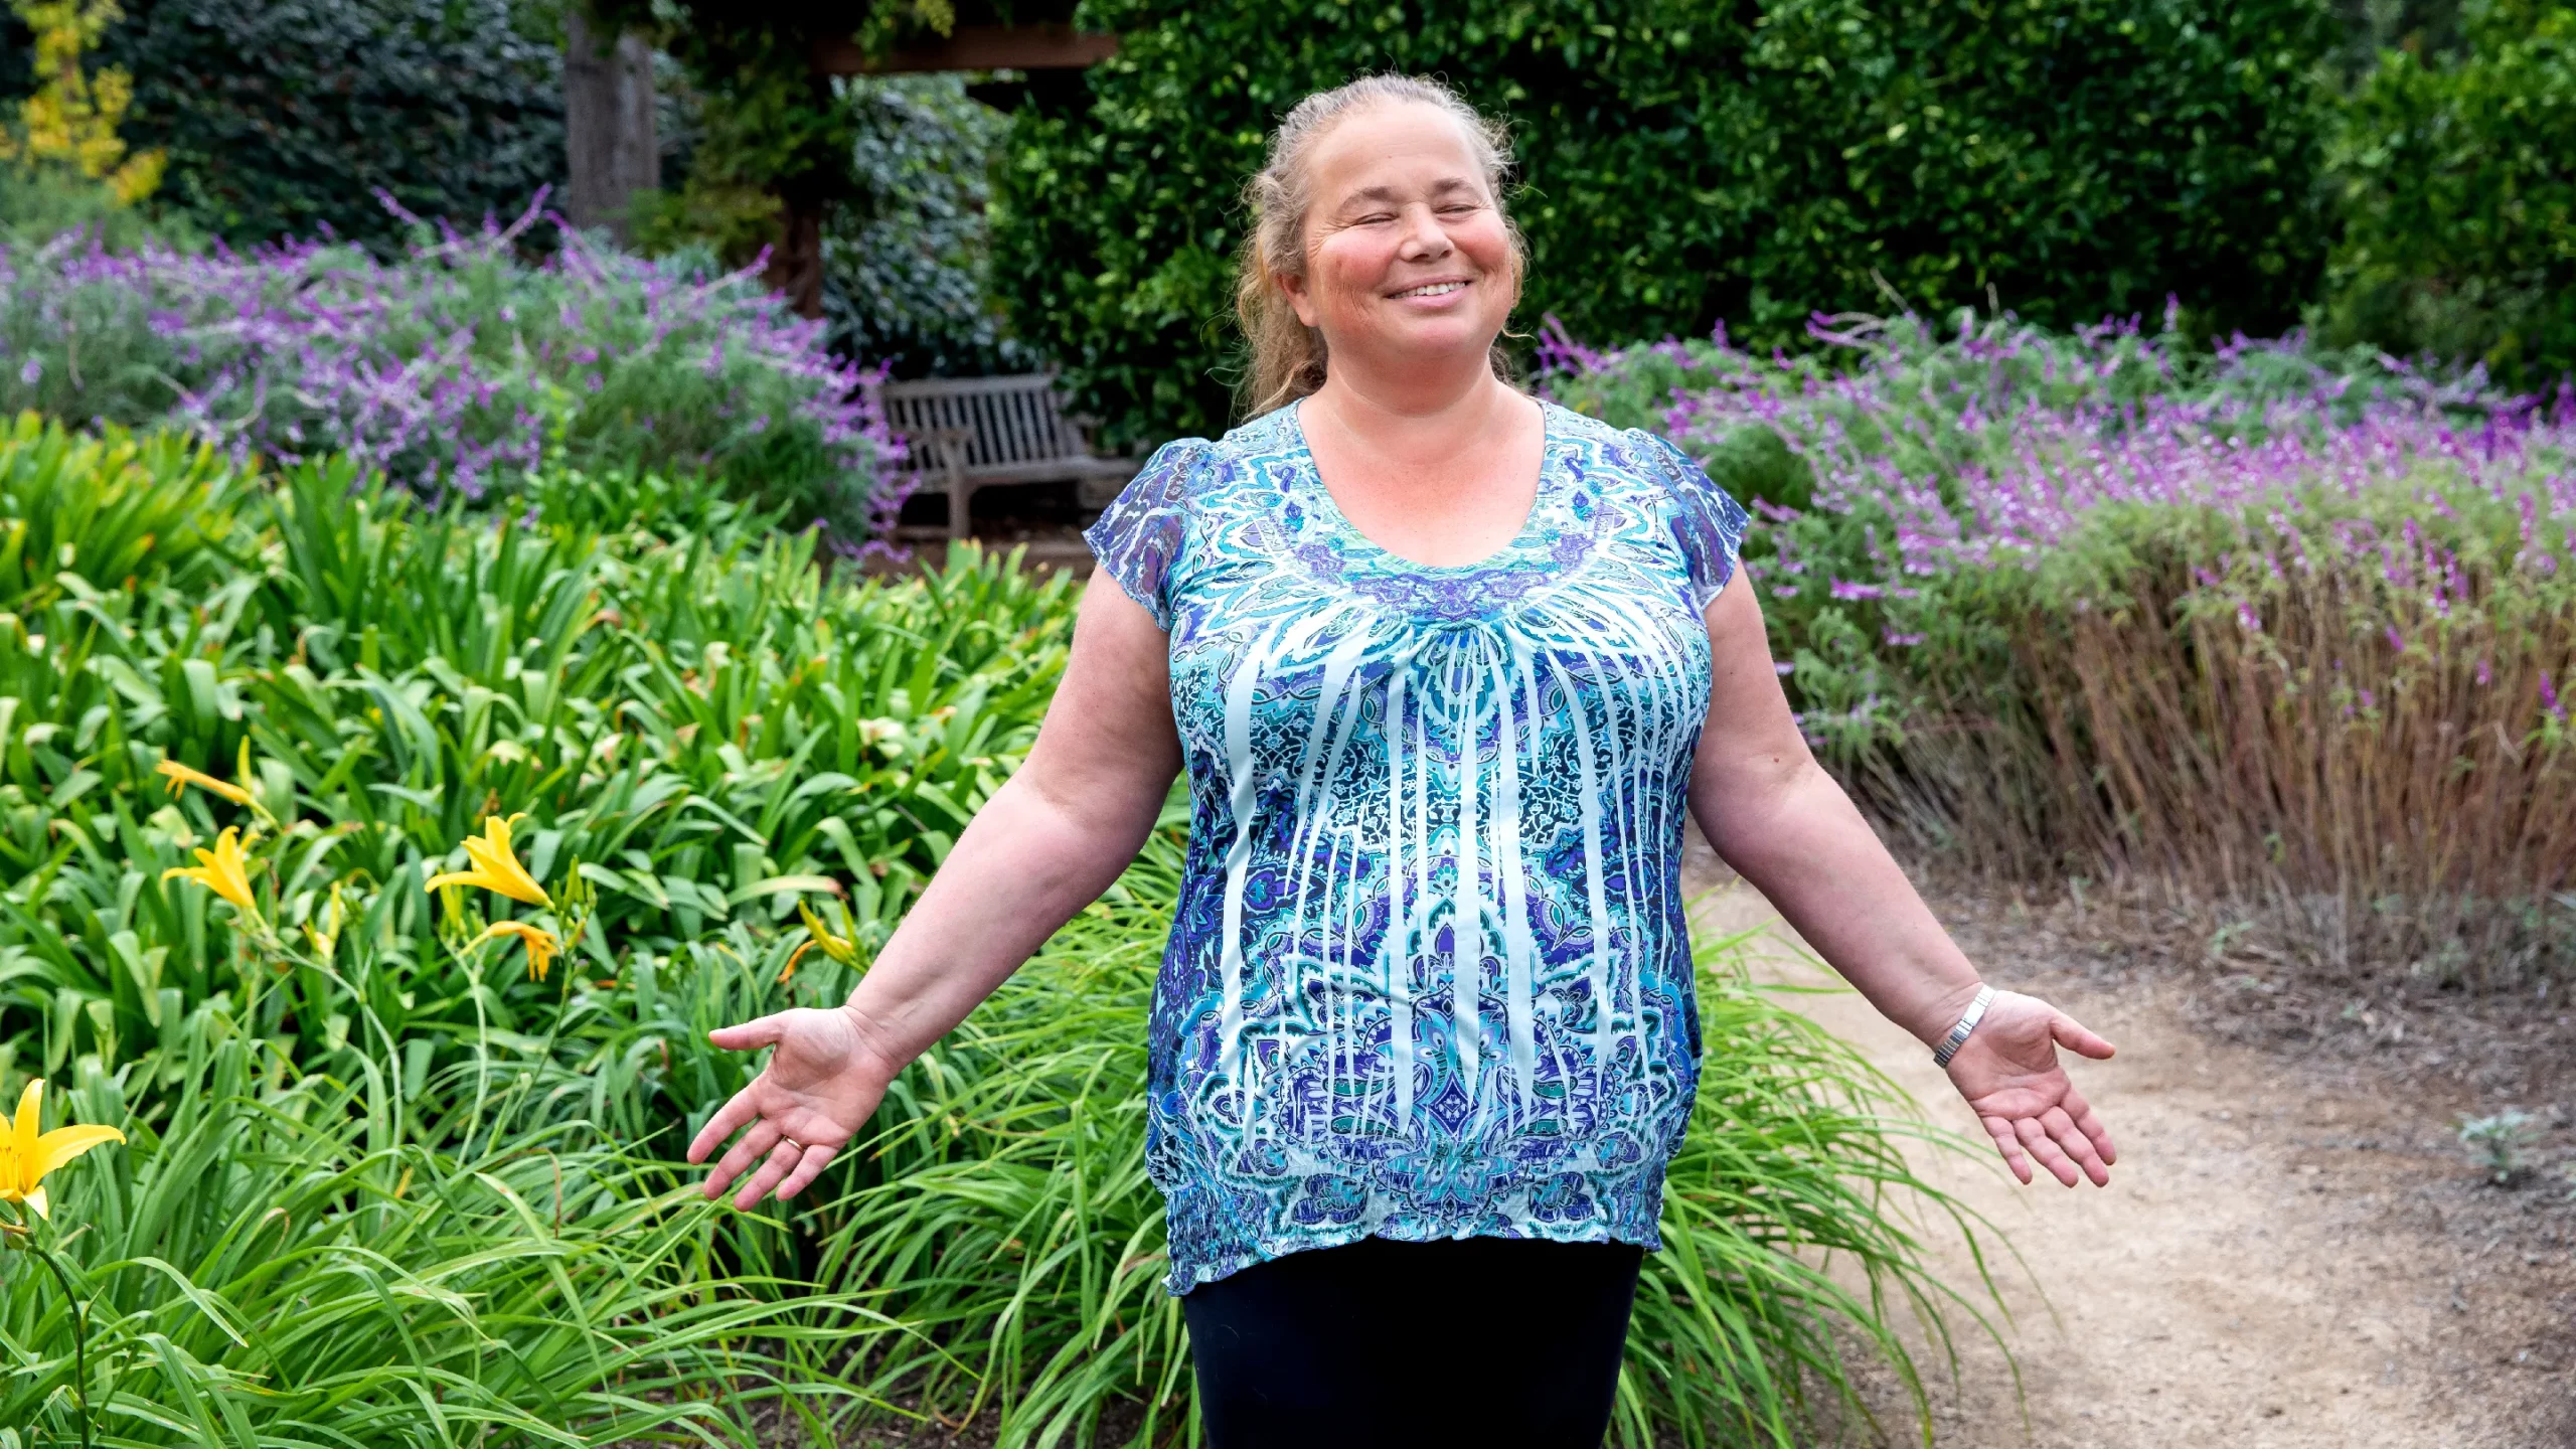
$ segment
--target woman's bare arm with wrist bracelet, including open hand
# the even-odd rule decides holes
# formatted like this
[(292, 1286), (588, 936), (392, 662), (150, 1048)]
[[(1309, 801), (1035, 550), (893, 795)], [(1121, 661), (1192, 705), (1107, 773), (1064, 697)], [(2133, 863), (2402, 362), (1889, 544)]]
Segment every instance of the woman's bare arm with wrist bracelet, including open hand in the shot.
[[(1700, 833), (1880, 1016), (1937, 1044), (1978, 993), (1976, 964), (1808, 753), (1747, 580), (1708, 606), (1708, 724), (1690, 768)], [(1996, 993), (1950, 1057), (1950, 1083), (2025, 1183), (2038, 1158), (2066, 1186), (2079, 1176), (2099, 1186), (2115, 1150), (2058, 1065), (2061, 1044), (2112, 1055), (2045, 1000)]]

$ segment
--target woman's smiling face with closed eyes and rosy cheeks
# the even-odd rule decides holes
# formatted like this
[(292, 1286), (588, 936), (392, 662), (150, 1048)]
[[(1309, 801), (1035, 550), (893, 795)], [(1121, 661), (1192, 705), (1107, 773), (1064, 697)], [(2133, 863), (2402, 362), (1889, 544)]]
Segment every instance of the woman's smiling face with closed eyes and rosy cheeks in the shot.
[(1280, 286), (1337, 361), (1484, 364), (1515, 302), (1512, 237), (1458, 119), (1388, 103), (1345, 116), (1306, 160), (1306, 276)]

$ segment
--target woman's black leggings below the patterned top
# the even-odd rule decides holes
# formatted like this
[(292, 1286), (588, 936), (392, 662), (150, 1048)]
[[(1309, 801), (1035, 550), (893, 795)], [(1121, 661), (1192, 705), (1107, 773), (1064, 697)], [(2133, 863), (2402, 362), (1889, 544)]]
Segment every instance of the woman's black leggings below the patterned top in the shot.
[(1211, 1449), (1597, 1449), (1646, 1250), (1360, 1238), (1182, 1294)]

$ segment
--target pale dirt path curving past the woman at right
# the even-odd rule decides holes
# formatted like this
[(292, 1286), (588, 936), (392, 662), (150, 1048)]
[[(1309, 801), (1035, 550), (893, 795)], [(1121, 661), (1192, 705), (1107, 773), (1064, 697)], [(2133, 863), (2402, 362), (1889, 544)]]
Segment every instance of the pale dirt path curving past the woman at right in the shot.
[[(1692, 846), (1695, 887), (1718, 884)], [(1708, 897), (1700, 920), (1788, 938), (1747, 887)], [(2483, 1186), (2421, 1093), (2179, 1026), (2182, 985), (1999, 954), (1981, 959), (1991, 980), (2120, 1047), (2081, 1067), (2120, 1163), (2110, 1191), (2069, 1191), (1919, 1152), (2012, 1238), (2056, 1307), (2030, 1276), (2004, 1279), (2027, 1436), (2004, 1354), (1963, 1336), (1960, 1379), (1932, 1385), (1940, 1446), (2576, 1446), (2576, 1274), (2535, 1225), (2540, 1204), (2512, 1201), (2555, 1189)], [(1767, 957), (1765, 975), (1816, 982), (1788, 949)], [(1940, 1124), (1976, 1129), (1929, 1055), (1868, 1003), (1806, 1000)], [(1976, 1281), (1955, 1235), (1937, 1263)], [(1893, 1374), (1873, 1377), (1873, 1397), (1909, 1423)]]

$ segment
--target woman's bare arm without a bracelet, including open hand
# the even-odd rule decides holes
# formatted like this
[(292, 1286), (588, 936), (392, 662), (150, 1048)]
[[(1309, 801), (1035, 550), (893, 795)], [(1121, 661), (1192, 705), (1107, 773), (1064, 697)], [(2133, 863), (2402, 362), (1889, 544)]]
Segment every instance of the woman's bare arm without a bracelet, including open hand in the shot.
[(1136, 856), (1180, 773), (1170, 642), (1115, 580), (1095, 572), (1028, 761), (976, 810), (850, 1000), (711, 1031), (716, 1047), (778, 1047), (688, 1147), (706, 1196), (768, 1155), (734, 1196), (757, 1204), (811, 1183), (884, 1101), (894, 1075), (945, 1036)]

